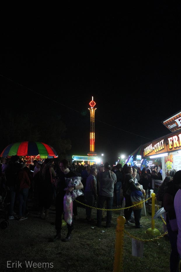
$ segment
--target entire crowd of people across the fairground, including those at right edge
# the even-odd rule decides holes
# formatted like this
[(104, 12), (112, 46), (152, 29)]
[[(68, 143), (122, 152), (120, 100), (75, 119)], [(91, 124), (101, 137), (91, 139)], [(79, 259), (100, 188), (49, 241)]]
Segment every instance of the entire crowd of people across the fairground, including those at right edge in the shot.
[[(159, 172), (160, 173), (160, 172)], [(135, 224), (135, 228), (142, 228), (140, 224), (142, 200), (149, 194), (152, 179), (162, 179), (158, 167), (143, 168), (130, 167), (121, 163), (112, 167), (109, 162), (97, 165), (69, 164), (69, 161), (45, 159), (33, 161), (33, 165), (26, 166), (18, 156), (5, 159), (1, 164), (1, 187), (7, 189), (8, 219), (24, 220), (27, 218), (27, 199), (33, 199), (33, 207), (37, 209), (41, 219), (48, 220), (49, 209), (55, 204), (55, 235), (51, 241), (61, 239), (62, 218), (64, 215), (64, 196), (73, 190), (82, 190), (86, 203), (85, 220), (90, 223), (93, 207), (97, 209), (97, 226), (102, 225), (102, 213), (106, 208), (106, 228), (111, 226), (112, 209), (119, 209), (123, 205), (126, 219), (125, 227)], [(81, 177), (76, 186), (68, 187), (67, 180)], [(156, 198), (164, 207), (164, 218), (171, 244), (170, 271), (177, 271), (181, 242), (180, 223), (180, 190), (181, 171), (171, 171), (159, 187)], [(176, 196), (176, 198), (175, 198)], [(175, 198), (175, 200), (174, 200)], [(18, 203), (18, 206), (16, 206)], [(133, 206), (133, 207), (132, 207)], [(15, 212), (16, 207), (16, 212)], [(67, 236), (62, 241), (67, 242), (72, 237), (74, 219), (77, 216), (77, 204), (73, 201), (73, 216), (71, 224), (67, 223)], [(18, 216), (17, 214), (18, 213)], [(178, 219), (179, 218), (179, 219)], [(170, 220), (177, 219), (177, 229), (172, 230)]]

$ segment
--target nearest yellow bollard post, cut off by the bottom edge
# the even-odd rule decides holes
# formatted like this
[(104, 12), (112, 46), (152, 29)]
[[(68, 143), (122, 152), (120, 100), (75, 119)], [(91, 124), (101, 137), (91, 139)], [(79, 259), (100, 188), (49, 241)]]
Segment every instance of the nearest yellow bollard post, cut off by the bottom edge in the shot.
[(116, 241), (115, 241), (113, 272), (123, 272), (123, 237), (124, 237), (125, 222), (126, 222), (126, 219), (124, 216), (118, 216), (117, 226), (116, 226)]

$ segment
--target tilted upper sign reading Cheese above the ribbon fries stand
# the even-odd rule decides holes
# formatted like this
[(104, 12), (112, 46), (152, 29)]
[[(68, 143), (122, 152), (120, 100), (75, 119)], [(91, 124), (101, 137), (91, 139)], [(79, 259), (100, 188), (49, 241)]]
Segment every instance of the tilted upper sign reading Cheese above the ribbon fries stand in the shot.
[(166, 120), (161, 121), (170, 131), (174, 132), (181, 129), (181, 111), (175, 113), (173, 116), (168, 117)]

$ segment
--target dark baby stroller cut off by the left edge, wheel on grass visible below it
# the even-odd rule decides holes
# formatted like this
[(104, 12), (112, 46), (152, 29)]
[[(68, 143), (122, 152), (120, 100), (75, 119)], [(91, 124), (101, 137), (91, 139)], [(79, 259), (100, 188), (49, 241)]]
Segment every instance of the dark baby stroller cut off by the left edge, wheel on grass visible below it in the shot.
[(0, 228), (6, 229), (9, 225), (7, 220), (8, 203), (6, 203), (7, 191), (3, 186), (2, 177), (0, 179)]

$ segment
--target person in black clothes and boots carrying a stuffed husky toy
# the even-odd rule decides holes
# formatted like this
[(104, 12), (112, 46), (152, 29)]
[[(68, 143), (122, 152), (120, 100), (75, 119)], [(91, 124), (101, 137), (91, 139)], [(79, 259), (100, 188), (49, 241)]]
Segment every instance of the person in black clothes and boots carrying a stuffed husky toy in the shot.
[[(77, 176), (75, 172), (70, 171), (69, 162), (66, 159), (62, 159), (59, 162), (60, 166), (60, 185), (57, 189), (58, 193), (56, 195), (55, 200), (55, 229), (56, 229), (56, 235), (51, 239), (51, 241), (56, 241), (58, 239), (61, 239), (61, 228), (62, 228), (62, 214), (64, 212), (64, 196), (66, 193), (71, 192), (72, 190), (79, 190), (83, 188), (83, 184), (80, 182), (79, 185), (73, 186), (73, 187), (67, 187), (66, 178), (72, 178)], [(66, 190), (64, 190), (66, 188)], [(74, 201), (73, 201), (74, 205)], [(74, 229), (74, 222), (72, 220), (72, 224), (67, 224), (67, 236), (62, 239), (62, 242), (68, 242), (72, 237), (72, 230)]]

